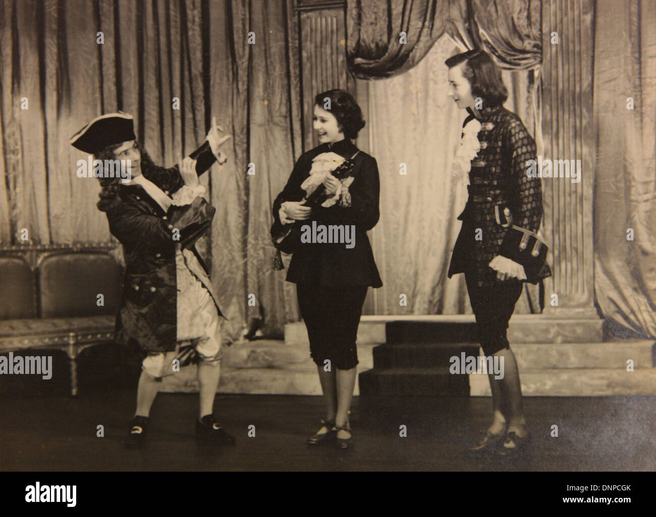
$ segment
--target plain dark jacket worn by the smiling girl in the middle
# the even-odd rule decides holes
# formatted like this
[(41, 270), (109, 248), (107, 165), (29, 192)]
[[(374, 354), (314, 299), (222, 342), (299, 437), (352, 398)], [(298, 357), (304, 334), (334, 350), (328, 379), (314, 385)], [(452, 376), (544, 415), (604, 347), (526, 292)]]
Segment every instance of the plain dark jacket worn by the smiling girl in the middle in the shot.
[[(350, 159), (357, 151), (358, 147), (344, 138), (333, 145), (321, 144), (300, 155), (285, 189), (274, 201), (273, 216), (276, 223), (280, 223), (279, 209), (284, 201), (301, 201), (304, 198), (305, 191), (300, 185), (310, 176), (314, 157), (332, 152)], [(354, 180), (348, 189), (351, 206), (336, 203), (328, 208), (313, 208), (310, 218), (303, 221), (310, 227), (312, 221), (316, 221), (317, 225), (355, 225), (354, 248), (346, 248), (340, 243), (300, 244), (289, 264), (288, 282), (331, 287), (382, 286), (367, 237), (367, 230), (371, 230), (380, 217), (378, 164), (373, 157), (362, 151), (354, 163)]]

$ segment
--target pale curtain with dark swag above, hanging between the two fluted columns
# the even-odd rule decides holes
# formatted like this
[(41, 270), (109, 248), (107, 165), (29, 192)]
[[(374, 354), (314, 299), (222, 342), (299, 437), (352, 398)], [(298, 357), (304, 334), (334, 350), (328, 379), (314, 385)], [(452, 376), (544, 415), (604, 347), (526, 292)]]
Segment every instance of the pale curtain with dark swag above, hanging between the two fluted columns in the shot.
[[(446, 276), (466, 189), (451, 174), (464, 114), (447, 97), (444, 60), (487, 50), (503, 69), (506, 107), (522, 117), (540, 152), (541, 4), (349, 0), (347, 14), (350, 70), (384, 79), (367, 88), (369, 147), (381, 170), (381, 217), (371, 241), (384, 287), (370, 294), (373, 312), (470, 312), (464, 278)], [(525, 286), (516, 311), (540, 311), (537, 286)]]

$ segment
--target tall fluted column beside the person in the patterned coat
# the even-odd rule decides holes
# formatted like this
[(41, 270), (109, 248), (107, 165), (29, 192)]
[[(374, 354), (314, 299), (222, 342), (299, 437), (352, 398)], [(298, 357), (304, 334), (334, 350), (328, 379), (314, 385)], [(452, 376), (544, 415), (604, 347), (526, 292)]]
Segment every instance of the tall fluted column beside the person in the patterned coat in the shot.
[[(594, 0), (543, 0), (542, 7), (543, 158), (574, 164), (580, 160), (582, 171), (577, 183), (572, 178), (543, 178), (543, 227), (553, 270), (545, 282), (544, 312), (572, 318), (597, 316), (592, 255), (593, 6)], [(550, 305), (553, 293), (558, 294), (557, 307)]]

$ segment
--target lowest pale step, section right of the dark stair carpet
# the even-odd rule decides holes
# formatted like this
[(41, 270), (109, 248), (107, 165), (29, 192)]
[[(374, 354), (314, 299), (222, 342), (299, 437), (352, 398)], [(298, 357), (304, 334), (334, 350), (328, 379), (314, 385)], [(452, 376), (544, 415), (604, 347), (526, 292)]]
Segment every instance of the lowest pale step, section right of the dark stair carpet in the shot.
[[(520, 369), (524, 396), (654, 396), (656, 368), (627, 372), (621, 368)], [(469, 375), (472, 396), (490, 396), (487, 375)]]

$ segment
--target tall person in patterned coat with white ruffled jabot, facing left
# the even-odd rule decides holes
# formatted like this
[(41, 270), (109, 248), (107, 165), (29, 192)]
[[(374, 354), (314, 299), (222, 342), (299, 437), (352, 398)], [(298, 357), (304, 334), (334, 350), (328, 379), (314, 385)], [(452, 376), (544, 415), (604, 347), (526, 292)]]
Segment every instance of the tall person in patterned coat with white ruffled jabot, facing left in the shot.
[(535, 160), (535, 142), (520, 117), (502, 106), (508, 93), (489, 55), (470, 50), (452, 56), (446, 65), (449, 96), (469, 113), (455, 159), (469, 183), (469, 197), (459, 216), (462, 228), (449, 277), (464, 273), (483, 353), (501, 365), (501, 377), (488, 375), (493, 423), (472, 451), (499, 448), (508, 455), (525, 447), (528, 432), (520, 374), (506, 330), (522, 282), (536, 279), (527, 278), (524, 265), (506, 258), (504, 237), (517, 231), (536, 239), (543, 214), (542, 186), (539, 178), (526, 174), (527, 161)]

